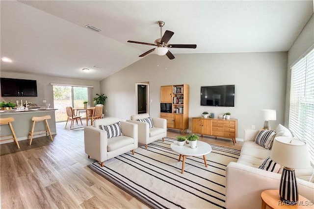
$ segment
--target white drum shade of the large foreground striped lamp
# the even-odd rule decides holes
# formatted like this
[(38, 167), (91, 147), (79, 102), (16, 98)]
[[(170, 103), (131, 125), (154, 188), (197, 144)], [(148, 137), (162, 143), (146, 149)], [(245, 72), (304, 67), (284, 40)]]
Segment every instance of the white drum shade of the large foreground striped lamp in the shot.
[(276, 137), (271, 148), (270, 159), (288, 168), (310, 167), (308, 145), (299, 139)]

